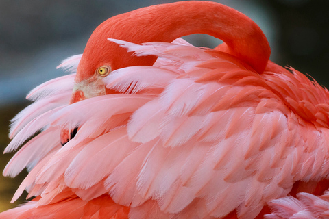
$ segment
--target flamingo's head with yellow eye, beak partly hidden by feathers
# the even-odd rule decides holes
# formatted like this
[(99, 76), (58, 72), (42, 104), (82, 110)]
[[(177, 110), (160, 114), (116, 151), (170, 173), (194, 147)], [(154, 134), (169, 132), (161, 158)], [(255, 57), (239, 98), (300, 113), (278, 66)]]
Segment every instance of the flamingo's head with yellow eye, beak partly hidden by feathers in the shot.
[[(108, 38), (119, 38), (130, 40), (130, 42), (140, 42), (137, 37), (132, 38), (116, 31), (116, 29), (122, 29), (113, 27), (117, 23), (116, 20), (116, 17), (113, 17), (104, 21), (90, 36), (77, 66), (75, 85), (69, 104), (95, 96), (118, 93), (106, 88), (106, 84), (103, 82), (103, 79), (110, 75), (113, 70), (127, 66), (151, 66), (156, 62), (155, 56), (134, 56), (132, 52), (127, 52), (127, 49), (108, 40)], [(77, 128), (73, 130), (63, 129), (60, 134), (62, 146), (69, 142), (76, 133)]]

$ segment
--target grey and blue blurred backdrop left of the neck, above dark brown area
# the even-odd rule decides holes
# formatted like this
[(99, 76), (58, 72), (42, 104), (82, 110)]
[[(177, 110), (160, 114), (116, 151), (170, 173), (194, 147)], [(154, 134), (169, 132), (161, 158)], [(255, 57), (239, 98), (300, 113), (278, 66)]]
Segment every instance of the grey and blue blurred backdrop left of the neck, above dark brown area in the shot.
[(38, 84), (63, 75), (56, 66), (82, 53), (99, 23), (145, 5), (147, 1), (1, 1), (0, 106), (23, 101)]

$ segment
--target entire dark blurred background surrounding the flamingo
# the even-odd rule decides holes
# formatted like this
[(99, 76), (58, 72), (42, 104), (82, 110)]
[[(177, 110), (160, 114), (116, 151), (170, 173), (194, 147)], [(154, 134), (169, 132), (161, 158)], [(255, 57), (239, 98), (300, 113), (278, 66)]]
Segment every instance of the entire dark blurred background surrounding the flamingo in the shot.
[[(10, 119), (29, 104), (25, 96), (38, 84), (65, 73), (61, 60), (84, 51), (88, 37), (102, 21), (116, 14), (170, 0), (1, 0), (0, 1), (0, 149), (10, 142)], [(267, 36), (271, 60), (293, 66), (329, 87), (329, 1), (222, 0), (252, 18)], [(203, 35), (185, 38), (192, 44), (220, 43)], [(0, 169), (14, 153), (1, 155)], [(0, 177), (0, 211), (19, 205), (10, 199), (25, 177)]]

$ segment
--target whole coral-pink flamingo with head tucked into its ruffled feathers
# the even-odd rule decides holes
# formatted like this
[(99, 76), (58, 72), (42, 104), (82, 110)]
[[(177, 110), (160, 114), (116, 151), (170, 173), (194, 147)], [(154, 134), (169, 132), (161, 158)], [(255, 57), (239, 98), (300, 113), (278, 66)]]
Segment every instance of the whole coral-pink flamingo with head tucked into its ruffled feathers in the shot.
[(328, 218), (329, 92), (270, 53), (210, 1), (104, 21), (12, 120), (5, 153), (34, 138), (3, 175), (34, 198), (0, 218)]

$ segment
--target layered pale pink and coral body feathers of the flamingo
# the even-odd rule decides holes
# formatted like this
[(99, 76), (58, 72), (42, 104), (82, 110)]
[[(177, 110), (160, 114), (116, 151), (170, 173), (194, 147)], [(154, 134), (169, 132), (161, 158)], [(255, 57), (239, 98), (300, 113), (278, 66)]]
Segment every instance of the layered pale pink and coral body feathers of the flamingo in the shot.
[[(14, 198), (27, 188), (46, 209), (71, 190), (85, 202), (108, 197), (129, 206), (130, 218), (189, 218), (193, 209), (196, 218), (234, 210), (253, 218), (287, 196), (295, 181), (328, 177), (328, 91), (317, 83), (273, 63), (258, 75), (232, 55), (182, 40), (111, 41), (136, 55), (159, 56), (158, 62), (116, 70), (103, 81), (119, 94), (71, 105), (66, 92), (60, 101), (57, 88), (52, 91), (66, 79), (60, 90), (70, 90), (71, 76), (38, 88), (34, 107), (40, 110), (31, 107), (16, 119), (7, 149), (42, 131), (5, 169), (6, 175), (31, 170)], [(302, 95), (289, 93), (300, 88)], [(47, 104), (52, 101), (58, 105)], [(56, 135), (75, 127), (77, 135), (60, 147)], [(293, 211), (301, 206), (289, 198), (273, 201), (285, 203)]]

